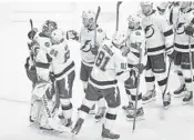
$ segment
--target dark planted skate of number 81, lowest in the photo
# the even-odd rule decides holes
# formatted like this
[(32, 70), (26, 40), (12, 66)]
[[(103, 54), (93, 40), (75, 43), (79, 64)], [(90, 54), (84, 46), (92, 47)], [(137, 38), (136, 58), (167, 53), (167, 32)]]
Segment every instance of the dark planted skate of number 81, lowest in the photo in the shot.
[(101, 134), (101, 137), (102, 137), (102, 140), (109, 140), (109, 139), (116, 140), (116, 139), (120, 138), (120, 134), (111, 132), (109, 129), (105, 129), (104, 124), (103, 124), (102, 126), (102, 134)]

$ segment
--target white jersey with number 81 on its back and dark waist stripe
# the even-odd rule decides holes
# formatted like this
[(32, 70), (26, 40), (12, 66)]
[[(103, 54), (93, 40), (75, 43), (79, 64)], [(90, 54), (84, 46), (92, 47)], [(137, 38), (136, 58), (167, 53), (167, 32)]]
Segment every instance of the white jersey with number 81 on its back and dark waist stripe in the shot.
[(111, 40), (105, 40), (99, 48), (89, 82), (99, 89), (112, 88), (118, 83), (116, 76), (125, 71), (126, 58), (122, 57), (121, 50), (113, 47)]

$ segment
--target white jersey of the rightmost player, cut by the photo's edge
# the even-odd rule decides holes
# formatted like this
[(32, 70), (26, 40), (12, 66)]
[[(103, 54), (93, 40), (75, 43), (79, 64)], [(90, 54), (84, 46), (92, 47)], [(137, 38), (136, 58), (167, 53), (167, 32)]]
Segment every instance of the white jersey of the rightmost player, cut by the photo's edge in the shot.
[[(185, 27), (190, 24), (191, 20), (194, 17), (194, 10), (188, 10), (187, 12), (178, 12), (176, 30), (175, 30), (175, 44), (174, 49), (180, 52), (188, 52), (188, 36), (185, 34)], [(192, 51), (194, 51), (194, 38), (191, 37), (191, 47)]]

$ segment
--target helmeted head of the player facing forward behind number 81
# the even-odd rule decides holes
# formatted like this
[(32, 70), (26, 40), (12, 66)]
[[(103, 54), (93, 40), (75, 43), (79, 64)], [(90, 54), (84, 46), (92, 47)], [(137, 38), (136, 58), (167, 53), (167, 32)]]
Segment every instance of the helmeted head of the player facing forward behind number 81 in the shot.
[(91, 28), (95, 20), (95, 12), (93, 11), (83, 11), (82, 12), (82, 23), (85, 28)]

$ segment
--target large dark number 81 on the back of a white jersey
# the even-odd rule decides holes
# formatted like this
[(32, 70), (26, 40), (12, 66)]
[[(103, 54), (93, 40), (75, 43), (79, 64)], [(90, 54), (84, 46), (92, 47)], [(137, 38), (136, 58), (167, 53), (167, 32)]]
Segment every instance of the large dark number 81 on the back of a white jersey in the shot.
[(110, 57), (105, 57), (104, 52), (100, 51), (95, 60), (95, 66), (99, 67), (102, 71), (105, 71), (105, 67), (109, 61), (110, 61)]

